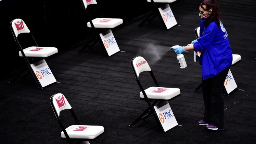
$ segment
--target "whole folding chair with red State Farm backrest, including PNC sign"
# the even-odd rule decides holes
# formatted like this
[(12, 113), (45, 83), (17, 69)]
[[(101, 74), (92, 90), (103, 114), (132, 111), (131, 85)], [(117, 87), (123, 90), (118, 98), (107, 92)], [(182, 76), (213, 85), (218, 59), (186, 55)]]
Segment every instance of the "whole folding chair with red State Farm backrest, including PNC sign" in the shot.
[[(174, 126), (177, 126), (178, 123), (173, 114), (168, 114), (170, 116), (170, 119), (168, 119), (169, 122), (167, 122), (168, 121), (167, 119), (165, 120), (163, 119), (163, 115), (166, 116), (166, 114), (161, 114), (161, 112), (165, 111), (166, 109), (168, 109), (170, 112), (171, 108), (168, 101), (171, 101), (174, 98), (180, 96), (180, 89), (160, 87), (147, 61), (141, 56), (136, 56), (131, 60), (131, 67), (132, 67), (135, 79), (138, 83), (138, 86), (141, 90), (141, 92), (139, 93), (140, 99), (147, 102), (148, 108), (138, 118), (136, 118), (134, 122), (129, 126), (134, 127), (134, 125), (139, 120), (142, 120), (142, 119), (146, 120), (147, 117), (149, 117), (151, 114), (153, 114), (155, 120), (160, 125), (163, 131), (167, 131)], [(151, 78), (153, 79), (155, 86), (144, 89), (141, 81), (139, 80), (139, 75), (140, 73), (147, 72), (147, 71), (149, 72)], [(163, 111), (159, 111), (160, 108)], [(172, 124), (170, 124), (169, 126), (166, 126), (166, 125), (164, 126), (163, 125), (164, 122), (166, 122), (165, 124), (167, 123), (170, 124), (170, 122)]]

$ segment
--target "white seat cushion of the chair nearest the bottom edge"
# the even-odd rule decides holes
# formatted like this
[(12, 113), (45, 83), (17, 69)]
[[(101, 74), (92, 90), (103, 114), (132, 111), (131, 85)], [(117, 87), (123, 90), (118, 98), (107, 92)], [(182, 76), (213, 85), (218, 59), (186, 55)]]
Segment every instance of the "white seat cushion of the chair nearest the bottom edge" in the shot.
[[(104, 132), (103, 126), (72, 125), (66, 128), (70, 138), (94, 139)], [(61, 138), (66, 138), (64, 132)]]

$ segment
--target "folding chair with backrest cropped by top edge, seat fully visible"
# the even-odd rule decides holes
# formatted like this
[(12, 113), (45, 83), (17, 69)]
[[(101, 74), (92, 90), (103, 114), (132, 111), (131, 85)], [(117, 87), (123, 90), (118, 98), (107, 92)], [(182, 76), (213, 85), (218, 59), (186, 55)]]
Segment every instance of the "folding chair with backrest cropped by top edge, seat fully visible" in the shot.
[(102, 14), (100, 14), (101, 18), (92, 19), (87, 11), (87, 6), (97, 4), (96, 0), (81, 0), (81, 3), (89, 19), (87, 27), (94, 30), (95, 36), (93, 36), (78, 53), (82, 53), (86, 48), (93, 47), (96, 42), (100, 42), (101, 47), (107, 52), (108, 56), (119, 52), (120, 49), (111, 29), (121, 25), (123, 20), (121, 18), (104, 18)]

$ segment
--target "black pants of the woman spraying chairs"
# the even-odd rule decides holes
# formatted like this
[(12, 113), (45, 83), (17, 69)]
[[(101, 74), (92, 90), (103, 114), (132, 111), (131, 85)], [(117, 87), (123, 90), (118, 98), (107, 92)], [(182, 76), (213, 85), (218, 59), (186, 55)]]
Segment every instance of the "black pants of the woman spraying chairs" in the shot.
[(224, 96), (222, 90), (229, 68), (230, 66), (217, 76), (202, 79), (205, 109), (203, 120), (218, 128), (224, 128)]

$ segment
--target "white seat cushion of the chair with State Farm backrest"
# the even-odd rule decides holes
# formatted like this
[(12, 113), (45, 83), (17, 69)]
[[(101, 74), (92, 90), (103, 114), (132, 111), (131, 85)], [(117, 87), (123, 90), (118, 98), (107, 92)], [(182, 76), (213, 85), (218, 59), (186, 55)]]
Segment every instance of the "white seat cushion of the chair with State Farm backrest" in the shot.
[[(180, 94), (178, 88), (164, 88), (164, 87), (150, 87), (145, 90), (148, 99), (169, 100)], [(142, 92), (140, 92), (140, 98), (144, 98)]]

